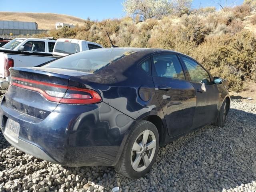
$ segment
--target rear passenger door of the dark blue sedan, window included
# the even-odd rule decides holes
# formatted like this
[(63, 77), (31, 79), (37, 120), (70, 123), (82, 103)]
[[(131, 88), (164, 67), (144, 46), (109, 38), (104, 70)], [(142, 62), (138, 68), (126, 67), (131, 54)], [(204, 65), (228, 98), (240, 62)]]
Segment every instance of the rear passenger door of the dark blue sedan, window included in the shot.
[(152, 56), (152, 77), (171, 137), (190, 130), (196, 92), (176, 54)]

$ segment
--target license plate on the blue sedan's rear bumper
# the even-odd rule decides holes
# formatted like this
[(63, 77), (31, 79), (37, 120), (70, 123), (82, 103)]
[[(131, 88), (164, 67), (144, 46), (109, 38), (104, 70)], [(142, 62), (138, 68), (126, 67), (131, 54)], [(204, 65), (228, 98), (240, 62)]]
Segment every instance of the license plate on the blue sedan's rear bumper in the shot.
[(5, 134), (14, 142), (18, 143), (18, 136), (20, 132), (20, 124), (14, 120), (8, 119), (6, 121)]

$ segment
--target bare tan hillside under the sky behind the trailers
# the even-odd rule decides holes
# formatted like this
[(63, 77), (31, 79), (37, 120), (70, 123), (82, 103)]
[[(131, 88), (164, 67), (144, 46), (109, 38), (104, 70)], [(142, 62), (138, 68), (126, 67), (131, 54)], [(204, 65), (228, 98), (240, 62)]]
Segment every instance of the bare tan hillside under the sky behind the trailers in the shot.
[(55, 13), (19, 13), (0, 12), (0, 20), (36, 22), (38, 29), (53, 29), (56, 22), (83, 25), (84, 20), (78, 17)]

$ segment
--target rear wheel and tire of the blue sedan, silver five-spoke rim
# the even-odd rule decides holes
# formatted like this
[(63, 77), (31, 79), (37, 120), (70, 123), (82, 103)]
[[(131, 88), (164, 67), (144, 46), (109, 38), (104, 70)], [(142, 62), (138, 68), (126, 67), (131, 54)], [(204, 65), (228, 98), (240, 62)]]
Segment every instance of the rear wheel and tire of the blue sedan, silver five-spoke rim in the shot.
[(115, 168), (128, 178), (138, 179), (152, 168), (158, 149), (159, 135), (156, 126), (141, 120), (132, 128)]

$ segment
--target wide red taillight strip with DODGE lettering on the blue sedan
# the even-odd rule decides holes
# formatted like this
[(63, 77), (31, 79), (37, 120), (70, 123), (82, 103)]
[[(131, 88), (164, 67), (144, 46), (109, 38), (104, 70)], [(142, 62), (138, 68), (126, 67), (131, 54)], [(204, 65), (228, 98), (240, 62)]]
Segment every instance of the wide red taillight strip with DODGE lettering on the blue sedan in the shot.
[[(36, 91), (52, 102), (65, 104), (95, 104), (102, 102), (102, 98), (98, 92), (91, 89), (76, 88), (18, 77), (12, 77), (12, 80), (10, 86), (14, 85), (20, 88)], [(43, 89), (36, 86), (41, 86)]]

